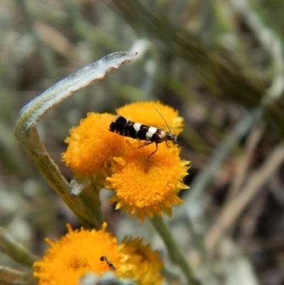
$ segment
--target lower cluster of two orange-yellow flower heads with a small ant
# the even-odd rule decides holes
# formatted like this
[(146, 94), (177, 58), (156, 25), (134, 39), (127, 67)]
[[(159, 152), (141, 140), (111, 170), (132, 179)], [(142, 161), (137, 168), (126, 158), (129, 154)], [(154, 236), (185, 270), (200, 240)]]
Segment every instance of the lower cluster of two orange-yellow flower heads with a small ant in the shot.
[[(120, 278), (131, 278), (141, 285), (160, 284), (159, 274), (163, 262), (158, 260), (158, 252), (151, 252), (149, 245), (141, 240), (117, 244), (116, 238), (102, 230), (72, 231), (61, 240), (51, 242), (42, 260), (34, 263), (34, 276), (38, 285), (75, 285), (84, 274), (103, 274), (113, 271)], [(141, 274), (141, 270), (148, 270)]]

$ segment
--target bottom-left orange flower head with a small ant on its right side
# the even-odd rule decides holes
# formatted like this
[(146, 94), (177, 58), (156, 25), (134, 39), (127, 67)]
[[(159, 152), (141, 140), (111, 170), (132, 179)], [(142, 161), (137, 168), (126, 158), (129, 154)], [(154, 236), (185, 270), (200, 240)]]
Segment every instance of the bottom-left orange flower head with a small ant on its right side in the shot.
[(46, 239), (50, 248), (42, 260), (33, 264), (33, 275), (38, 277), (38, 285), (75, 285), (88, 272), (103, 274), (111, 270), (101, 257), (107, 257), (119, 272), (123, 254), (119, 252), (116, 238), (106, 232), (106, 227), (104, 223), (99, 231), (72, 231), (67, 225), (68, 233), (61, 240), (52, 242)]

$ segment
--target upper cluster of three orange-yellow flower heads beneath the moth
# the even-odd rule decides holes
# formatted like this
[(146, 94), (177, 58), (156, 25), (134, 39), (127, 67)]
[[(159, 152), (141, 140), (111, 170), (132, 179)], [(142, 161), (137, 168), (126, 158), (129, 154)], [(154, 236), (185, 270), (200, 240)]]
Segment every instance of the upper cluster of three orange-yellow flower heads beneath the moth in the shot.
[[(176, 135), (182, 131), (182, 117), (160, 102), (136, 102), (116, 111), (133, 122), (158, 126)], [(188, 188), (182, 179), (187, 176), (189, 161), (180, 159), (180, 149), (173, 141), (138, 148), (145, 141), (109, 131), (113, 119), (110, 114), (88, 114), (70, 131), (62, 160), (77, 176), (92, 177), (113, 190), (110, 203), (116, 203), (116, 209), (129, 210), (142, 221), (146, 215), (171, 215), (173, 205), (182, 203), (180, 190)]]

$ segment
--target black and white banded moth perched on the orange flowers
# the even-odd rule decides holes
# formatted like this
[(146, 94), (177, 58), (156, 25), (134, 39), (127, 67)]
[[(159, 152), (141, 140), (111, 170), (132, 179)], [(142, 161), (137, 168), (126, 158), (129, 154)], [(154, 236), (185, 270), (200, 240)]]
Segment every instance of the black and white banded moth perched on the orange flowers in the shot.
[[(158, 112), (158, 110), (156, 111)], [(165, 121), (164, 118), (163, 120)], [(165, 122), (165, 124), (167, 124), (167, 122)], [(168, 129), (170, 131), (169, 127)], [(158, 127), (151, 127), (147, 126), (146, 124), (132, 122), (122, 116), (116, 117), (116, 119), (114, 119), (114, 122), (111, 122), (109, 125), (109, 131), (120, 134), (121, 136), (129, 136), (132, 139), (141, 139), (145, 141), (141, 146), (138, 147), (138, 149), (142, 146), (148, 146), (149, 144), (155, 143), (156, 149), (152, 154), (150, 154), (147, 161), (149, 161), (149, 158), (153, 156), (156, 151), (158, 151), (158, 144), (165, 141), (166, 146), (168, 146), (167, 141), (178, 141), (178, 137), (171, 132), (165, 131), (164, 129), (159, 129)]]

